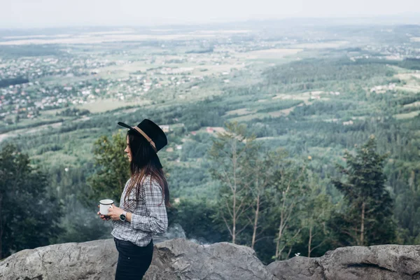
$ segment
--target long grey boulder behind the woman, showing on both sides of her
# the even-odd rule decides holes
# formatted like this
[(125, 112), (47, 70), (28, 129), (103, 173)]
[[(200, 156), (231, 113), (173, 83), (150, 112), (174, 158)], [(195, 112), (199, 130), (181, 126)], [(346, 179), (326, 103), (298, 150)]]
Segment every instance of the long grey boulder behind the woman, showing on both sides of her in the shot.
[[(113, 239), (55, 244), (23, 250), (0, 262), (1, 280), (113, 280), (118, 252)], [(199, 245), (186, 239), (155, 244), (151, 279), (276, 278), (246, 246), (228, 242)]]

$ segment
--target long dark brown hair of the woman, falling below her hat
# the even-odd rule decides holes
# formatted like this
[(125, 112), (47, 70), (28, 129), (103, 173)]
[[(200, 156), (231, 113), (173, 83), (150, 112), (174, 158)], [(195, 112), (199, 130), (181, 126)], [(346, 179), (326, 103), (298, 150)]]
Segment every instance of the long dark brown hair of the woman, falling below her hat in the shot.
[[(133, 188), (136, 188), (136, 200), (139, 200), (142, 182), (146, 176), (150, 175), (151, 189), (152, 181), (158, 181), (160, 187), (162, 188), (162, 198), (165, 195), (165, 205), (167, 207), (172, 207), (169, 203), (169, 188), (165, 178), (165, 172), (163, 172), (158, 155), (155, 151), (153, 151), (151, 144), (149, 144), (144, 137), (141, 137), (132, 130), (127, 132), (127, 137), (129, 143), (128, 145), (130, 146), (132, 153), (132, 160), (130, 162), (131, 180), (127, 186), (124, 204)], [(160, 202), (160, 204), (162, 204), (162, 202)]]

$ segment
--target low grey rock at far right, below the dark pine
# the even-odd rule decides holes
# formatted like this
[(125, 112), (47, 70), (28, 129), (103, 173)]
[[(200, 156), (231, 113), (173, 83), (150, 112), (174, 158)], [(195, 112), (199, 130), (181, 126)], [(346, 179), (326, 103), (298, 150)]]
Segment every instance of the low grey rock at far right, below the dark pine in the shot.
[(321, 258), (295, 257), (267, 268), (282, 280), (420, 279), (420, 246), (343, 247)]

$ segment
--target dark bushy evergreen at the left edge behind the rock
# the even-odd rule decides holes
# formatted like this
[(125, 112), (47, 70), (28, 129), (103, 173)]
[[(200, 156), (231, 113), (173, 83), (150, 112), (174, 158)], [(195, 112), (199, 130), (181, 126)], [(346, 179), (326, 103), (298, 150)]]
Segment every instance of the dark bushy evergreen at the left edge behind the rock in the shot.
[(12, 144), (0, 151), (0, 259), (50, 244), (62, 233), (62, 205), (48, 195), (48, 178)]

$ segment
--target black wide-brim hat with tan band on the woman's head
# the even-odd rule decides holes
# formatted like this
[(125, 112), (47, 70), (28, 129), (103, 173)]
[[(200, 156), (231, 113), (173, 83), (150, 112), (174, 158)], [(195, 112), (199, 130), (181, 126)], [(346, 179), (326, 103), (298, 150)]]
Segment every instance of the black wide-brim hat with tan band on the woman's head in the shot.
[[(144, 139), (146, 139), (146, 141), (151, 144), (151, 147), (155, 153), (158, 153), (158, 151), (160, 151), (168, 144), (168, 139), (165, 135), (165, 132), (163, 132), (159, 125), (156, 125), (151, 120), (144, 119), (141, 121), (141, 123), (139, 123), (139, 125), (135, 127), (131, 127), (130, 125), (121, 122), (118, 122), (118, 125), (127, 127), (128, 129), (139, 134), (141, 137), (144, 137)], [(160, 163), (159, 158), (158, 161)], [(162, 167), (162, 165), (160, 166)]]

